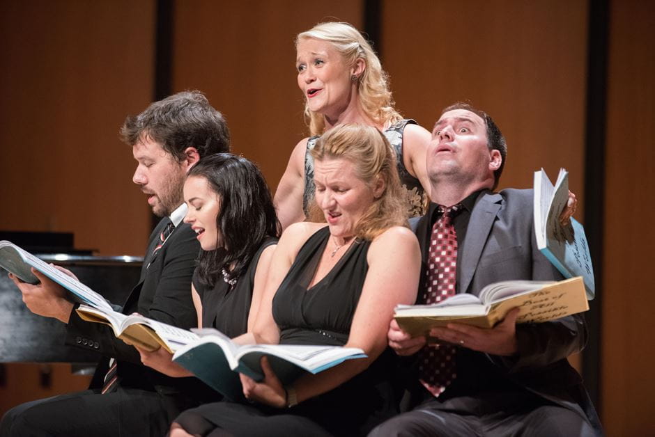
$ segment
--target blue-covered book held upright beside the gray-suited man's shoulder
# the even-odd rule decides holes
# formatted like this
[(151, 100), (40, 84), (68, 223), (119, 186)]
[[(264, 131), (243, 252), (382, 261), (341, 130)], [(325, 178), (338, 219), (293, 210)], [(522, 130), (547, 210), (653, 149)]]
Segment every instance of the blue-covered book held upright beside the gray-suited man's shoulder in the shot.
[(534, 172), (534, 232), (537, 247), (564, 278), (582, 276), (587, 299), (594, 299), (595, 283), (592, 257), (585, 228), (571, 217), (571, 225), (562, 226), (560, 214), (569, 200), (569, 173), (564, 168), (555, 186), (542, 168)]

